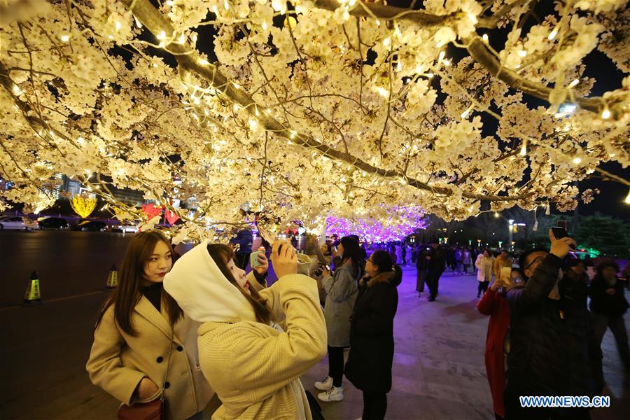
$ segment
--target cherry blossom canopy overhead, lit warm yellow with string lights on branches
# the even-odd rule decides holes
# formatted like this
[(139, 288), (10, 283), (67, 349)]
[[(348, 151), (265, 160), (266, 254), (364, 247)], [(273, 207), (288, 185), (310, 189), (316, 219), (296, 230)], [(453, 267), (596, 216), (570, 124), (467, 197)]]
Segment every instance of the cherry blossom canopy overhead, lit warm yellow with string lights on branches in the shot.
[(245, 202), (305, 225), (573, 209), (594, 172), (630, 186), (600, 167), (630, 163), (630, 77), (596, 97), (584, 76), (596, 49), (627, 73), (630, 10), (537, 3), (4, 1), (0, 207), (47, 207), (61, 172), (129, 218), (109, 186), (144, 192), (186, 222), (177, 239)]

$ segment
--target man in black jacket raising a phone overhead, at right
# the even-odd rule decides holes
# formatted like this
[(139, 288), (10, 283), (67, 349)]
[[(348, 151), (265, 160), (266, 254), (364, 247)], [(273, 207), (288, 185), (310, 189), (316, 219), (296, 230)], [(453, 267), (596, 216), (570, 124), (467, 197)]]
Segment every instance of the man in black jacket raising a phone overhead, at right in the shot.
[(582, 300), (584, 285), (565, 276), (563, 258), (575, 241), (556, 239), (551, 251), (521, 255), (524, 287), (507, 293), (510, 353), (505, 419), (589, 419), (587, 409), (521, 407), (521, 396), (598, 395), (603, 388), (601, 351)]

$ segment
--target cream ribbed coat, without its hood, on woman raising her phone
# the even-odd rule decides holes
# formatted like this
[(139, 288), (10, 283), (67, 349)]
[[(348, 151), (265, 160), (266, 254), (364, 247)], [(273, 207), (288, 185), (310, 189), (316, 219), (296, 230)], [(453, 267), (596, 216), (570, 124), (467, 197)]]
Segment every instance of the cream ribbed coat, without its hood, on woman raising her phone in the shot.
[(290, 274), (259, 293), (286, 316), (286, 331), (239, 320), (198, 330), (202, 370), (223, 402), (212, 419), (311, 420), (298, 378), (326, 354), (316, 282)]

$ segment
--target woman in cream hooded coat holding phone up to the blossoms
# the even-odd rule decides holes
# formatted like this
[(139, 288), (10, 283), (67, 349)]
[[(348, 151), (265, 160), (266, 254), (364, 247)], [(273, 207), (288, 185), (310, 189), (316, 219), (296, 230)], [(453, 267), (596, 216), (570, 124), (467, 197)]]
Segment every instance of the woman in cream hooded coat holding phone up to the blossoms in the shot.
[[(297, 253), (276, 241), (272, 263), (278, 281), (259, 291), (286, 331), (261, 323), (246, 293), (258, 288), (232, 258), (228, 279), (210, 255), (208, 241), (184, 254), (167, 274), (165, 289), (203, 325), (197, 331), (204, 376), (223, 405), (213, 419), (307, 419), (311, 412), (298, 379), (326, 351), (326, 328), (314, 279), (297, 274)], [(230, 273), (228, 273), (230, 274)]]

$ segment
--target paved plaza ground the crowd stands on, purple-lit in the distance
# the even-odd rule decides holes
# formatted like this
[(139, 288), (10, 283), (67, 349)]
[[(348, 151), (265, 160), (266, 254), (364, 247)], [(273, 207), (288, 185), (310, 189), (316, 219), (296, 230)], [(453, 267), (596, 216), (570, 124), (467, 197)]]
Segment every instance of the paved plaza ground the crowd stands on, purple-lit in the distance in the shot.
[[(484, 369), (488, 318), (477, 313), (475, 276), (446, 272), (437, 302), (419, 299), (415, 269), (405, 269), (398, 288), (393, 388), (387, 419), (493, 419)], [(118, 402), (90, 384), (85, 361), (92, 327), (105, 293), (45, 302), (40, 307), (0, 309), (3, 342), (3, 419), (114, 419)], [(626, 325), (630, 319), (626, 316)], [(604, 343), (605, 394), (609, 409), (593, 419), (624, 419), (630, 412), (628, 385), (610, 332)], [(316, 395), (314, 381), (325, 377), (326, 359), (302, 377)], [(322, 402), (327, 420), (356, 419), (361, 394), (344, 380), (342, 402)]]

